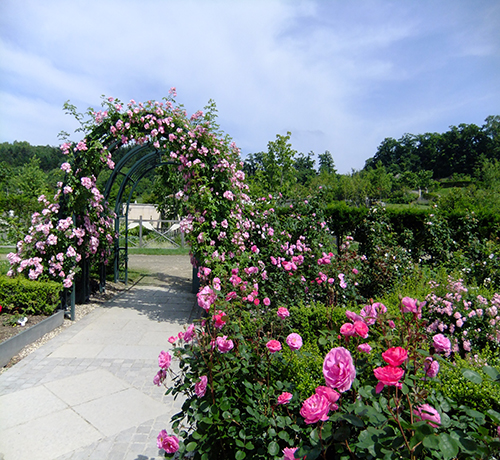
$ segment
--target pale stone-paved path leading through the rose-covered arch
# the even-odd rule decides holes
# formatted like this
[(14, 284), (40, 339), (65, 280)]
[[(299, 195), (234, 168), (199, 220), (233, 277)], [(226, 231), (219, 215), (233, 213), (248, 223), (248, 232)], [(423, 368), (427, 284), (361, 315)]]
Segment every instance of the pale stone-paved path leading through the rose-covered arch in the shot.
[(0, 460), (164, 458), (156, 436), (182, 403), (153, 385), (158, 354), (200, 309), (188, 256), (129, 264), (151, 275), (0, 375)]

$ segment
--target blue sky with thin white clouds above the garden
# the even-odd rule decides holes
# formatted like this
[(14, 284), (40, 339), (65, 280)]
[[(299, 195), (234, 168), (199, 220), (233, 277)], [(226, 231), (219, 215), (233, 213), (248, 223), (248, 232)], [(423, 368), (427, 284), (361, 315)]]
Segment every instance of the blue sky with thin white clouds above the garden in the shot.
[(497, 0), (0, 0), (0, 142), (59, 145), (101, 95), (215, 100), (242, 156), (276, 134), (361, 169), (386, 137), (500, 114)]

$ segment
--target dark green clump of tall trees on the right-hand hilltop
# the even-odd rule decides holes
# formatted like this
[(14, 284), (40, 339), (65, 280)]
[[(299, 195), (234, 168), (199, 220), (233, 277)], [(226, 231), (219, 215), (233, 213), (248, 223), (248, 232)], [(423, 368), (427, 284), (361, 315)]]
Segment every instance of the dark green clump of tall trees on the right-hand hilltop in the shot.
[(405, 134), (386, 138), (365, 169), (386, 167), (388, 173), (433, 171), (433, 179), (456, 174), (473, 175), (485, 160), (500, 160), (500, 116), (491, 115), (483, 126), (460, 124), (442, 134)]

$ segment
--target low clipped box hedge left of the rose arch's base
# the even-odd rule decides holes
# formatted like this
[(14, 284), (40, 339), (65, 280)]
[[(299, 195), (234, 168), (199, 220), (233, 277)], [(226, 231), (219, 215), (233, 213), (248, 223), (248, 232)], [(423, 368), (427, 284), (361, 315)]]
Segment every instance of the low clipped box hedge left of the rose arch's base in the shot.
[(60, 304), (61, 283), (0, 276), (0, 305), (5, 313), (50, 315)]

